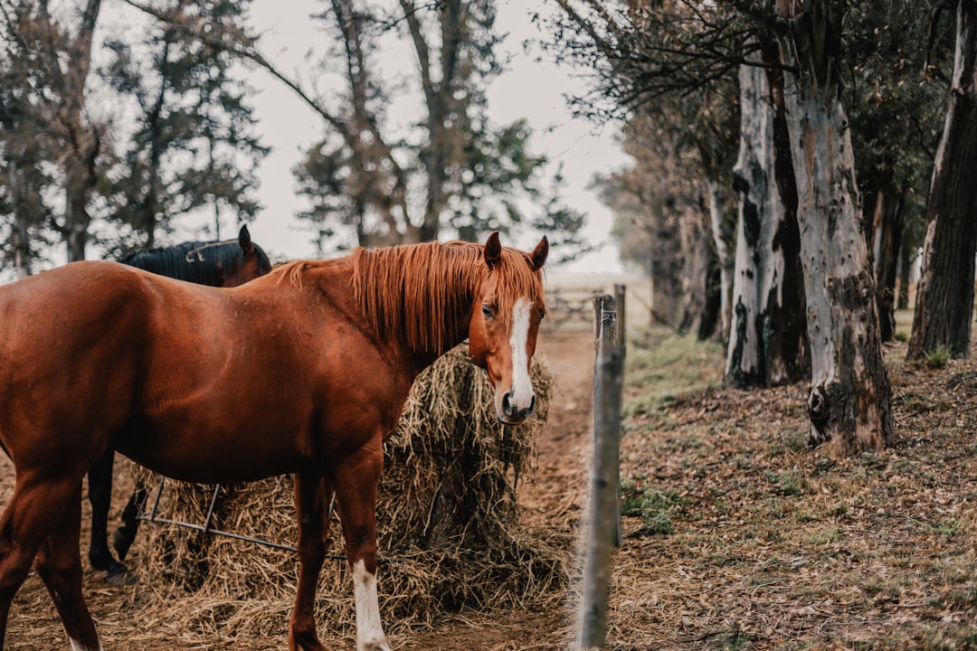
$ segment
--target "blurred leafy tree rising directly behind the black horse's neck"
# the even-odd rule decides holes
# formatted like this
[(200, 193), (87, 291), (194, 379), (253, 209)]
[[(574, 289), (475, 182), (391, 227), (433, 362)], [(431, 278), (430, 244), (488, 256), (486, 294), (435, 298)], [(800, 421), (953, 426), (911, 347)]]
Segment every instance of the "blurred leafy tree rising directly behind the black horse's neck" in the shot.
[[(128, 224), (138, 247), (152, 247), (160, 229), (204, 207), (214, 211), (220, 238), (221, 211), (234, 222), (254, 217), (257, 166), (268, 153), (253, 135), (246, 98), (252, 92), (234, 73), (236, 58), (169, 26), (202, 21), (231, 29), (249, 2), (176, 0), (156, 11), (139, 43), (109, 38), (108, 83), (135, 102), (135, 129), (122, 156), (126, 178), (116, 184), (112, 216)], [(134, 50), (135, 49), (135, 50)], [(137, 54), (137, 52), (139, 54)], [(149, 54), (147, 54), (149, 53)], [(123, 243), (123, 247), (125, 244)]]

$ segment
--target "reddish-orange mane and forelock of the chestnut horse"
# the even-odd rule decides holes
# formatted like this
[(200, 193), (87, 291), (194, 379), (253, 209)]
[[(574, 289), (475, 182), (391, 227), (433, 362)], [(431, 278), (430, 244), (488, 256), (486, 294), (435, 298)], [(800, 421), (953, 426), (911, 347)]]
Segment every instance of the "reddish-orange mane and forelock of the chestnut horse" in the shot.
[[(356, 249), (353, 291), (380, 338), (398, 337), (411, 349), (439, 355), (453, 346), (457, 327), (467, 323), (479, 283), (489, 273), (483, 246), (468, 242), (426, 242), (381, 249)], [(302, 275), (317, 263), (285, 265), (279, 278), (302, 285)], [(502, 249), (498, 273), (499, 310), (510, 313), (522, 296), (542, 298), (542, 278), (529, 257)]]

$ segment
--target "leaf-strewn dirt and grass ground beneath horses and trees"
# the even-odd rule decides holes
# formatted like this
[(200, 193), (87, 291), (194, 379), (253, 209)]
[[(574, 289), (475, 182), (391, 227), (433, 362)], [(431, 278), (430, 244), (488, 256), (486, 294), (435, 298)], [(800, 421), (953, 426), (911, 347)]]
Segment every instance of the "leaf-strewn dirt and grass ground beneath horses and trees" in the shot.
[[(520, 500), (525, 524), (562, 541), (573, 558), (591, 456), (593, 339), (544, 332), (539, 344), (555, 387)], [(663, 330), (635, 333), (628, 344), (624, 542), (614, 559), (608, 649), (977, 648), (973, 355), (930, 367), (906, 362), (903, 343), (886, 346), (896, 440), (884, 452), (832, 459), (806, 446), (806, 384), (729, 389), (714, 344)], [(4, 458), (0, 504), (12, 485)], [(284, 647), (284, 631), (215, 640), (159, 621), (139, 609), (146, 583), (112, 588), (86, 571), (106, 651)], [(391, 647), (570, 649), (577, 598), (573, 586), (556, 608), (466, 611), (427, 628), (394, 626)], [(349, 631), (332, 636), (330, 626), (319, 626), (330, 648), (355, 647)], [(8, 644), (67, 646), (33, 575), (15, 601)]]

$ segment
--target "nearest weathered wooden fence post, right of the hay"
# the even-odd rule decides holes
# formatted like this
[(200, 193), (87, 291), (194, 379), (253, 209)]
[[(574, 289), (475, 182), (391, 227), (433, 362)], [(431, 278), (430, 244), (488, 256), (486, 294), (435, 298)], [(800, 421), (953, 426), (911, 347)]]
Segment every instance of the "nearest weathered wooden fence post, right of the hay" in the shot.
[(594, 464), (591, 471), (590, 526), (583, 568), (580, 649), (603, 648), (607, 637), (611, 591), (611, 553), (619, 531), (618, 457), (624, 349), (616, 344), (613, 301), (595, 297), (598, 312), (597, 363), (594, 370)]

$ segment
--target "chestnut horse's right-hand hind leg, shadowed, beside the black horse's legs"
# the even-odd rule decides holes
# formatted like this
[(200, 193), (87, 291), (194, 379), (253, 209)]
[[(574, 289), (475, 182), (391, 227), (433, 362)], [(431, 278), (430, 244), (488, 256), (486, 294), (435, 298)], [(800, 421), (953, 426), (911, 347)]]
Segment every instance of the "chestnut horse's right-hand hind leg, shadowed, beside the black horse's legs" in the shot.
[(64, 510), (61, 522), (37, 551), (34, 569), (47, 586), (61, 615), (64, 631), (76, 651), (99, 651), (99, 635), (81, 594), (81, 486)]

